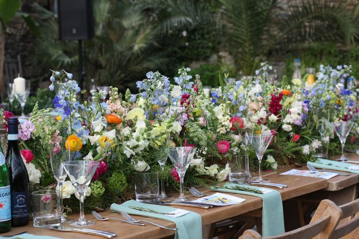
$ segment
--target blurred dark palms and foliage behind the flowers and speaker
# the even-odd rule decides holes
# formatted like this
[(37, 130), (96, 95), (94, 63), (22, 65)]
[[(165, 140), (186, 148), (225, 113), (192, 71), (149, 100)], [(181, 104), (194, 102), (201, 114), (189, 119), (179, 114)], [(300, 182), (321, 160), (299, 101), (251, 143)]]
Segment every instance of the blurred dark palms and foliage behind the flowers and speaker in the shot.
[[(36, 75), (33, 86), (48, 81), (50, 68), (78, 79), (77, 41), (58, 39), (54, 1), (21, 3), (15, 19), (31, 39), (25, 67)], [(284, 65), (279, 79), (291, 78), (295, 58), (302, 61), (302, 75), (319, 64), (352, 64), (359, 78), (357, 0), (94, 0), (94, 16), (95, 37), (84, 41), (86, 80), (121, 91), (135, 91), (150, 70), (173, 77), (182, 66), (211, 86), (218, 85), (218, 73), (253, 75), (267, 60)], [(33, 89), (27, 111), (36, 100), (51, 104), (53, 93)]]

